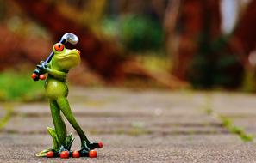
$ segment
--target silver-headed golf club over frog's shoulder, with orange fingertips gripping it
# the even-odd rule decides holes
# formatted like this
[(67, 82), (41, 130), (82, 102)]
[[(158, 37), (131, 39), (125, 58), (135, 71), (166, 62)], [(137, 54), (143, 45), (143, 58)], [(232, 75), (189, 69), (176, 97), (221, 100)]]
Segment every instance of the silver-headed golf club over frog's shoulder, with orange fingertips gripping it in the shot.
[[(78, 44), (78, 40), (79, 40), (78, 36), (76, 36), (75, 34), (65, 33), (61, 37), (59, 43), (66, 44), (67, 42), (69, 42), (70, 44), (75, 45), (75, 44)], [(50, 55), (47, 57), (47, 60), (45, 62), (43, 62), (42, 65), (45, 66), (47, 63), (49, 63), (52, 60), (53, 56), (54, 56), (54, 52), (52, 51), (50, 53)], [(38, 68), (34, 69), (33, 74), (31, 75), (31, 77), (33, 78), (34, 81), (38, 81), (39, 79), (44, 80), (46, 78), (45, 75), (43, 75), (41, 73), (41, 70), (38, 69)]]

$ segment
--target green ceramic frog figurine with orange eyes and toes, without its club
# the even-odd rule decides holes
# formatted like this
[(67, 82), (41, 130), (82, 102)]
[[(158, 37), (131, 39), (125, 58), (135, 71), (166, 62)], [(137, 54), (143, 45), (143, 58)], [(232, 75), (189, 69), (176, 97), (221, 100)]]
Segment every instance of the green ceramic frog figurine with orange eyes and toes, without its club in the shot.
[[(93, 149), (102, 148), (102, 142), (90, 142), (79, 126), (76, 118), (72, 114), (69, 102), (66, 99), (68, 87), (66, 84), (66, 75), (69, 69), (80, 63), (80, 51), (65, 48), (65, 45), (57, 43), (53, 45), (53, 58), (49, 63), (41, 62), (37, 65), (42, 74), (47, 73), (45, 90), (50, 102), (50, 108), (55, 130), (47, 128), (49, 134), (53, 137), (53, 148), (43, 150), (37, 156), (47, 157), (96, 157), (97, 153)], [(72, 127), (78, 132), (81, 140), (81, 149), (71, 151), (74, 138), (66, 134), (66, 124), (60, 115), (60, 112), (66, 117)]]

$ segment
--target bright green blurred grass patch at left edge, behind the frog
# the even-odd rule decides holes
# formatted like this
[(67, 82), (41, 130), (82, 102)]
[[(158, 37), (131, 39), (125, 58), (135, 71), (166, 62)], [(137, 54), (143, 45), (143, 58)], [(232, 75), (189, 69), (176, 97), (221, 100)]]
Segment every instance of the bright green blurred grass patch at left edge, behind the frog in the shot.
[(43, 82), (34, 82), (28, 73), (3, 72), (0, 74), (1, 101), (43, 100)]

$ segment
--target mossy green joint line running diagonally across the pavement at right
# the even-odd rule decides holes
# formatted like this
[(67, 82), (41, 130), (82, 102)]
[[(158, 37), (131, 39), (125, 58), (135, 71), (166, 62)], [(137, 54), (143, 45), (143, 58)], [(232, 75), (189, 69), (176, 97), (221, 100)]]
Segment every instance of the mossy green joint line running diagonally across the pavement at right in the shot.
[(211, 94), (206, 94), (206, 102), (203, 105), (203, 110), (207, 115), (212, 116), (215, 119), (219, 119), (222, 123), (222, 126), (229, 131), (229, 133), (237, 135), (243, 142), (253, 142), (254, 136), (247, 134), (247, 132), (242, 129), (240, 126), (235, 125), (231, 118), (224, 116), (220, 113), (214, 112), (212, 109), (212, 97)]

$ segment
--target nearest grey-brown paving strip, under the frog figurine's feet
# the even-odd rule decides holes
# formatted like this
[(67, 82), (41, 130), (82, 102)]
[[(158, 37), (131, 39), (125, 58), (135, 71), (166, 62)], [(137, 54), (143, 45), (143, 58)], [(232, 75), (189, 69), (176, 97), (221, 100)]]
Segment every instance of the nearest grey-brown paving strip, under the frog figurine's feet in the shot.
[[(4, 162), (253, 162), (255, 144), (232, 135), (127, 136), (90, 135), (104, 141), (97, 159), (47, 159), (34, 154), (51, 146), (46, 135), (0, 135)], [(76, 136), (76, 138), (78, 138)], [(78, 141), (74, 148), (78, 147)], [(15, 154), (15, 155), (12, 155)]]

